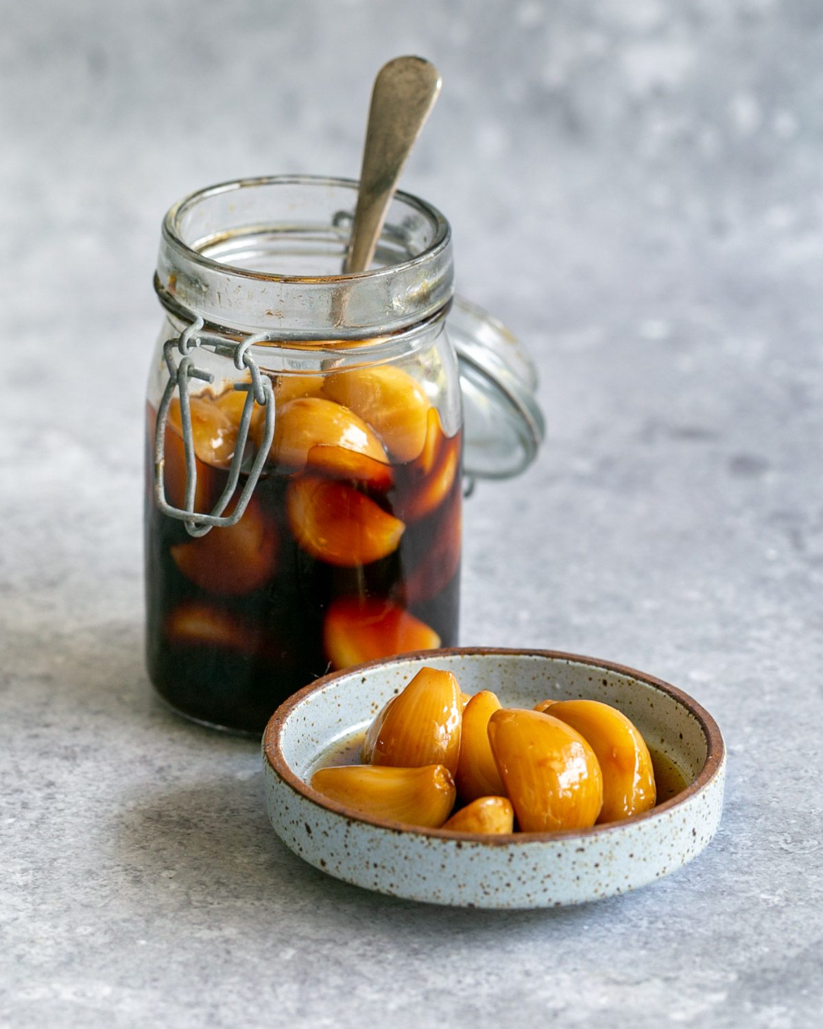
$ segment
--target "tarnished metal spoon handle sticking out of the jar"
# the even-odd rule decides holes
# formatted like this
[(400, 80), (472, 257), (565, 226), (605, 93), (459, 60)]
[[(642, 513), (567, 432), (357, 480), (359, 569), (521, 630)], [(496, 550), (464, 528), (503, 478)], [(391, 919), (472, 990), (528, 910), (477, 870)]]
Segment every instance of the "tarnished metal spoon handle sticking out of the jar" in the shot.
[(378, 72), (345, 274), (371, 263), (397, 180), (439, 92), (439, 73), (423, 58), (395, 58)]

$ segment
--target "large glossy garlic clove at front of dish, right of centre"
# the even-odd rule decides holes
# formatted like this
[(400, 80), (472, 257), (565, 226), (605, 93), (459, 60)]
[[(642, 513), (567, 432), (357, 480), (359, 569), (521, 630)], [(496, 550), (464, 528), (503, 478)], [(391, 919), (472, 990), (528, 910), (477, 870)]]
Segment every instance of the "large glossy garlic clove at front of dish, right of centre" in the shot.
[(603, 807), (597, 756), (570, 725), (539, 711), (503, 709), (489, 741), (524, 832), (588, 828)]

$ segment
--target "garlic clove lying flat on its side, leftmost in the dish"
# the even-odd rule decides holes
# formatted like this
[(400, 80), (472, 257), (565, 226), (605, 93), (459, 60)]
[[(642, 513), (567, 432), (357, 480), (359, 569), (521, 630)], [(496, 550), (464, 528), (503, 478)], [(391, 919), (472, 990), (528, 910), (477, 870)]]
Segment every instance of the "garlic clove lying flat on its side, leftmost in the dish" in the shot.
[(315, 772), (312, 788), (364, 815), (429, 828), (442, 825), (455, 804), (455, 783), (441, 765), (335, 766)]

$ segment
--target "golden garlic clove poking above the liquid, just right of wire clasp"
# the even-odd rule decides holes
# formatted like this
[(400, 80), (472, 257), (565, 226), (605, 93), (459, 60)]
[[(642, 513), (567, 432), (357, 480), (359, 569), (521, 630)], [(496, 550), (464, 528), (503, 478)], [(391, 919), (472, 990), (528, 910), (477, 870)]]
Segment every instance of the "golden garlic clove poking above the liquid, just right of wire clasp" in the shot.
[(318, 443), (326, 448), (321, 453), (323, 471), (334, 473), (334, 457), (341, 451), (388, 463), (383, 443), (372, 429), (348, 407), (316, 396), (289, 400), (277, 414), (270, 460), (289, 471), (298, 471), (306, 467), (310, 452)]

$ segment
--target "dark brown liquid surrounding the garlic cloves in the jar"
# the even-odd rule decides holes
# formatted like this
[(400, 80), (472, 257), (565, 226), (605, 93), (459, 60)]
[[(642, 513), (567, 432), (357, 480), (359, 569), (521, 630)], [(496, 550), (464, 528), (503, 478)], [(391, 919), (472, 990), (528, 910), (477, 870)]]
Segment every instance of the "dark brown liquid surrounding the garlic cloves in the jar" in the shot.
[[(338, 598), (397, 605), (434, 630), (442, 646), (457, 643), (460, 592), (461, 478), (425, 516), (406, 521), (430, 480), (416, 462), (397, 464), (388, 490), (349, 482), (383, 510), (405, 522), (399, 545), (380, 560), (339, 567), (301, 547), (289, 524), (286, 494), (299, 473), (266, 466), (253, 494), (253, 517), (265, 525), (265, 539), (276, 536), (276, 558), (261, 546), (271, 574), (252, 588), (218, 581), (198, 584), (181, 571), (173, 548), (192, 542), (182, 522), (160, 513), (153, 499), (155, 412), (147, 410), (145, 501), (146, 657), (158, 693), (174, 708), (201, 721), (259, 733), (287, 697), (331, 667), (324, 646), (324, 618)], [(172, 494), (169, 442), (179, 445), (167, 427), (167, 496)], [(460, 453), (460, 437), (441, 439)], [(198, 462), (199, 478), (208, 485), (196, 509), (219, 496), (227, 471)], [(243, 480), (241, 478), (241, 488)], [(199, 487), (200, 490), (200, 487)], [(179, 491), (178, 491), (179, 492)], [(419, 508), (418, 508), (419, 509)], [(247, 510), (241, 520), (251, 519)], [(210, 535), (227, 532), (215, 528)], [(208, 537), (204, 537), (206, 539)], [(219, 546), (219, 542), (214, 545)], [(267, 545), (267, 544), (266, 544)], [(179, 549), (175, 554), (179, 554)], [(241, 567), (248, 555), (238, 553)], [(198, 575), (198, 578), (203, 576)], [(430, 644), (429, 644), (430, 645)], [(404, 648), (406, 649), (406, 648)], [(365, 655), (370, 657), (370, 655)], [(365, 659), (363, 659), (365, 660)]]

